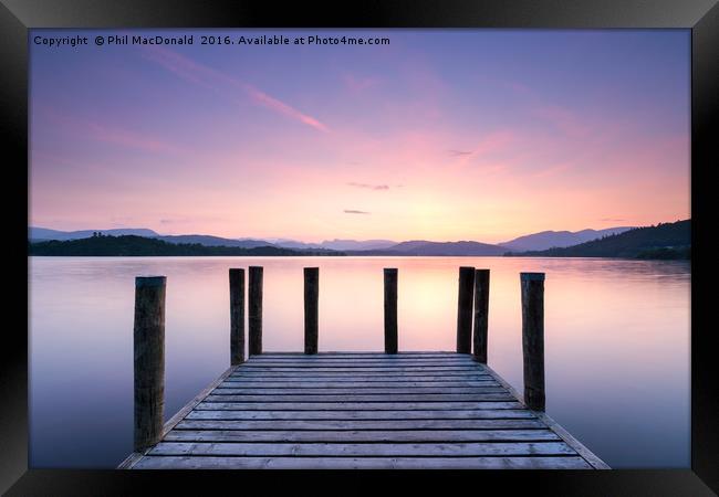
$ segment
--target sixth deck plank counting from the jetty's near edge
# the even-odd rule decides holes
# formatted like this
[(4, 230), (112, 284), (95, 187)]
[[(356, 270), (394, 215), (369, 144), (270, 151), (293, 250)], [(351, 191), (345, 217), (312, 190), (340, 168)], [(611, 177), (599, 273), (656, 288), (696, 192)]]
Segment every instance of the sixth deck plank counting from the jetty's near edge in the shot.
[(228, 411), (413, 411), (466, 410), (466, 409), (521, 409), (517, 401), (510, 402), (201, 402), (197, 410)]

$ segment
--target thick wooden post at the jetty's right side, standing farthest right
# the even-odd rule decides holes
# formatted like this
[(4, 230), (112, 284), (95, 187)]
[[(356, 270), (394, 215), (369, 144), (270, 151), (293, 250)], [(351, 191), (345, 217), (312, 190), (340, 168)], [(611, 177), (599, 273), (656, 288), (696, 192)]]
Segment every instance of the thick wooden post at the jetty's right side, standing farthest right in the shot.
[(544, 411), (544, 273), (521, 273), (524, 403)]

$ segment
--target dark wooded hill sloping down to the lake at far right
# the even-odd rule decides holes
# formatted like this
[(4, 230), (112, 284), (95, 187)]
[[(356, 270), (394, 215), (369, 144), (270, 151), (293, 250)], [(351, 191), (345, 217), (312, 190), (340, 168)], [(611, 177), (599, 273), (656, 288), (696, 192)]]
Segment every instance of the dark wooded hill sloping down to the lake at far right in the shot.
[(591, 242), (512, 255), (546, 257), (690, 258), (691, 220), (635, 228)]

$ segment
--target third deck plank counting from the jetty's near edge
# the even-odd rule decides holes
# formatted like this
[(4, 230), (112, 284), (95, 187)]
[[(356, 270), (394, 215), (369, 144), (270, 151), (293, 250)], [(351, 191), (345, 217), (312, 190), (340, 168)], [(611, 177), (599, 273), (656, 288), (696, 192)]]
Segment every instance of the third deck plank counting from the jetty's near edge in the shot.
[(174, 430), (167, 442), (529, 442), (560, 441), (551, 430)]

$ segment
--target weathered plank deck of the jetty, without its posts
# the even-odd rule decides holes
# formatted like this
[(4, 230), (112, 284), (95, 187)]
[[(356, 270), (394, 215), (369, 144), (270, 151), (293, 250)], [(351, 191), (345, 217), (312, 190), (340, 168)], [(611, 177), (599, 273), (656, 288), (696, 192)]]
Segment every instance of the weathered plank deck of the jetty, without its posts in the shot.
[(263, 352), (121, 468), (608, 468), (457, 352)]

